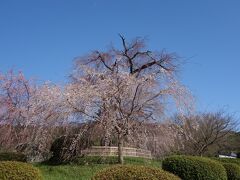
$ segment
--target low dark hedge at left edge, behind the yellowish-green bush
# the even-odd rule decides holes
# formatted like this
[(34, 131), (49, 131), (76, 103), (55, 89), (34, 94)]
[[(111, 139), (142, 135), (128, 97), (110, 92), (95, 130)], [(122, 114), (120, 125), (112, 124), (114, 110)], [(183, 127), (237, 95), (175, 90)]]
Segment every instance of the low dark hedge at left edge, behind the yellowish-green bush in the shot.
[(0, 153), (0, 161), (20, 161), (27, 162), (27, 157), (22, 153), (2, 152)]

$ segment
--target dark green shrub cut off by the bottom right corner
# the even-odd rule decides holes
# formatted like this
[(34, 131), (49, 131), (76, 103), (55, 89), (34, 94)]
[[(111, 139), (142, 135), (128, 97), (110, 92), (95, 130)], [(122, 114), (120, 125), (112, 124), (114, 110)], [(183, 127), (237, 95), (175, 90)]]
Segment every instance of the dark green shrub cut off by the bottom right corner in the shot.
[(240, 180), (240, 166), (233, 163), (222, 164), (227, 171), (228, 180)]

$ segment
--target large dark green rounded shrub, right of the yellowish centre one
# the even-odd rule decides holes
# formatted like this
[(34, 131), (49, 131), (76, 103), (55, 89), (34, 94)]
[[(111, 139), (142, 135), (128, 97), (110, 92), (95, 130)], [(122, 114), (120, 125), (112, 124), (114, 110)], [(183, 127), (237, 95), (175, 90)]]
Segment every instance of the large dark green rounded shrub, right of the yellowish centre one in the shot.
[(162, 168), (184, 180), (227, 180), (221, 163), (208, 158), (170, 156), (163, 160)]

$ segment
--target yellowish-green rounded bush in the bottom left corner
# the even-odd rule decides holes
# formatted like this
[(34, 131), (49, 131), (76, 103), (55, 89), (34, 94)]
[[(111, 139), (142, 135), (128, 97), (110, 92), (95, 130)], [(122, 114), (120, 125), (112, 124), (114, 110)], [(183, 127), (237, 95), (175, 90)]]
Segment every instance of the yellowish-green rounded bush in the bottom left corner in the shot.
[(40, 171), (31, 164), (15, 161), (0, 162), (1, 180), (41, 180)]

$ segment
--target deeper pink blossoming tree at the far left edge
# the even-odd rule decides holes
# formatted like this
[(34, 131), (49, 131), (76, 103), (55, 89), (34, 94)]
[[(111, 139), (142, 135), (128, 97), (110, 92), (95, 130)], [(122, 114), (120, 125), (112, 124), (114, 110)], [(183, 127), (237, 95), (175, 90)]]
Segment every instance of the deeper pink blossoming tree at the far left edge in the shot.
[(4, 132), (5, 148), (18, 144), (24, 136), (23, 125), (30, 120), (30, 99), (35, 93), (34, 85), (22, 72), (10, 70), (0, 75), (0, 124)]

